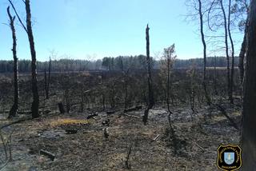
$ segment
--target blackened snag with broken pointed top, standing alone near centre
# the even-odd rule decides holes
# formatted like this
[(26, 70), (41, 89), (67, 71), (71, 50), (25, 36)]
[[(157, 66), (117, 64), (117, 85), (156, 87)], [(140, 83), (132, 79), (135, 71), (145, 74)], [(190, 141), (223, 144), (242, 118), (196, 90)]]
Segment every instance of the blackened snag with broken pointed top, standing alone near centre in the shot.
[(147, 84), (148, 84), (148, 106), (144, 112), (142, 121), (146, 125), (149, 110), (154, 106), (154, 93), (152, 89), (152, 77), (151, 77), (151, 59), (150, 59), (150, 28), (146, 25), (146, 63), (147, 63)]

